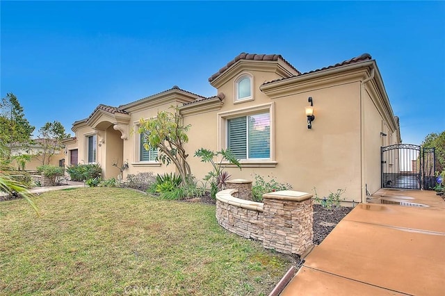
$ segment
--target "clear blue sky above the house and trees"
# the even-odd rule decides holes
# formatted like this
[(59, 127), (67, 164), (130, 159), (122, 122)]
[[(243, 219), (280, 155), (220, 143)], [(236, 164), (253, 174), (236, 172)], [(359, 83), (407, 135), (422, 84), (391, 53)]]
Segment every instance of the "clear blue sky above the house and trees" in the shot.
[[(88, 117), (208, 78), (241, 52), (300, 72), (365, 52), (377, 61), (403, 142), (445, 130), (445, 3), (0, 1), (1, 97), (36, 126)], [(35, 133), (37, 135), (37, 133)]]

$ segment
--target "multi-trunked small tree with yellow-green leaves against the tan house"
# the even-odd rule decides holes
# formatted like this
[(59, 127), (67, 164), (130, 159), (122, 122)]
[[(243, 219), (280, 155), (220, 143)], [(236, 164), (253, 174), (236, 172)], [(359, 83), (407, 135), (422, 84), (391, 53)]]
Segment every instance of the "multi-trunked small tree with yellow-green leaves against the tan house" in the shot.
[(179, 109), (170, 107), (173, 112), (159, 111), (156, 118), (149, 120), (140, 119), (139, 133), (145, 139), (144, 148), (150, 147), (159, 149), (156, 161), (161, 161), (169, 165), (174, 163), (183, 183), (192, 181), (190, 165), (187, 163), (188, 154), (184, 149), (184, 144), (188, 142), (187, 131), (189, 125), (184, 125)]

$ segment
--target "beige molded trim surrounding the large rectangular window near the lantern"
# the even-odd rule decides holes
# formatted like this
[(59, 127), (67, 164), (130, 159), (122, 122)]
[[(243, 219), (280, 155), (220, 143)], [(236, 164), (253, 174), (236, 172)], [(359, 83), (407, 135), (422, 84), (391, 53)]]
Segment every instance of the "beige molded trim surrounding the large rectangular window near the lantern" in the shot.
[(218, 142), (217, 147), (220, 149), (227, 149), (227, 120), (243, 117), (248, 115), (255, 115), (259, 113), (269, 113), (270, 120), (270, 157), (269, 158), (251, 158), (242, 159), (240, 162), (243, 167), (275, 167), (277, 161), (275, 161), (275, 119), (274, 119), (274, 102), (268, 104), (261, 104), (252, 107), (241, 108), (237, 110), (231, 110), (221, 112), (217, 114), (217, 134)]

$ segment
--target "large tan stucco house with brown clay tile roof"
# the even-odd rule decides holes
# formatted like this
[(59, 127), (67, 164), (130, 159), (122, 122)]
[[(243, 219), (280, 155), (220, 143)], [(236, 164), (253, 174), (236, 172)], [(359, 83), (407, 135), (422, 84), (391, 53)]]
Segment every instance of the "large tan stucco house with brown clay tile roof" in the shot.
[[(375, 60), (369, 54), (300, 73), (280, 55), (240, 54), (209, 78), (214, 97), (174, 86), (118, 107), (99, 105), (74, 122), (76, 138), (66, 142), (67, 164), (100, 163), (103, 176), (128, 161), (125, 174), (174, 171), (145, 151), (137, 133), (140, 118), (179, 106), (191, 124), (186, 150), (193, 174), (201, 179), (211, 166), (194, 158), (205, 147), (230, 148), (243, 169), (232, 178), (274, 176), (294, 190), (323, 197), (346, 188), (346, 200), (366, 202), (380, 188), (380, 147), (401, 142), (395, 117)], [(305, 107), (312, 98), (315, 120), (308, 129)]]

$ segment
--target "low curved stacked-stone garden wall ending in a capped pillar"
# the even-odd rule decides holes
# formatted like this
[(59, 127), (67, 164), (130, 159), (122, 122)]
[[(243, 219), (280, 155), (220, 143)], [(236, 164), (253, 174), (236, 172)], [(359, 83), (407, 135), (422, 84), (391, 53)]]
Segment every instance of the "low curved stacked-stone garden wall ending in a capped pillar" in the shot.
[(301, 255), (312, 246), (311, 194), (271, 192), (263, 195), (264, 203), (239, 199), (234, 194), (234, 189), (216, 194), (216, 219), (222, 227), (285, 254)]

